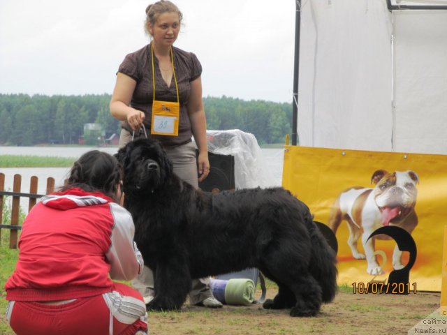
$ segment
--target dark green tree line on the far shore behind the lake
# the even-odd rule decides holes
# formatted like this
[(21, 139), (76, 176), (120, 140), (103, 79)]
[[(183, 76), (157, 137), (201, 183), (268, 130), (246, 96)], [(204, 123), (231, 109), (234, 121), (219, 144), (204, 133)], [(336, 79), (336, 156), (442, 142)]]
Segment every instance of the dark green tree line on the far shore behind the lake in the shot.
[[(106, 138), (119, 135), (120, 124), (109, 112), (110, 94), (45, 96), (0, 94), (0, 144), (77, 144), (85, 124), (100, 124)], [(291, 133), (291, 103), (203, 98), (207, 128), (240, 129), (259, 144), (284, 142)]]

